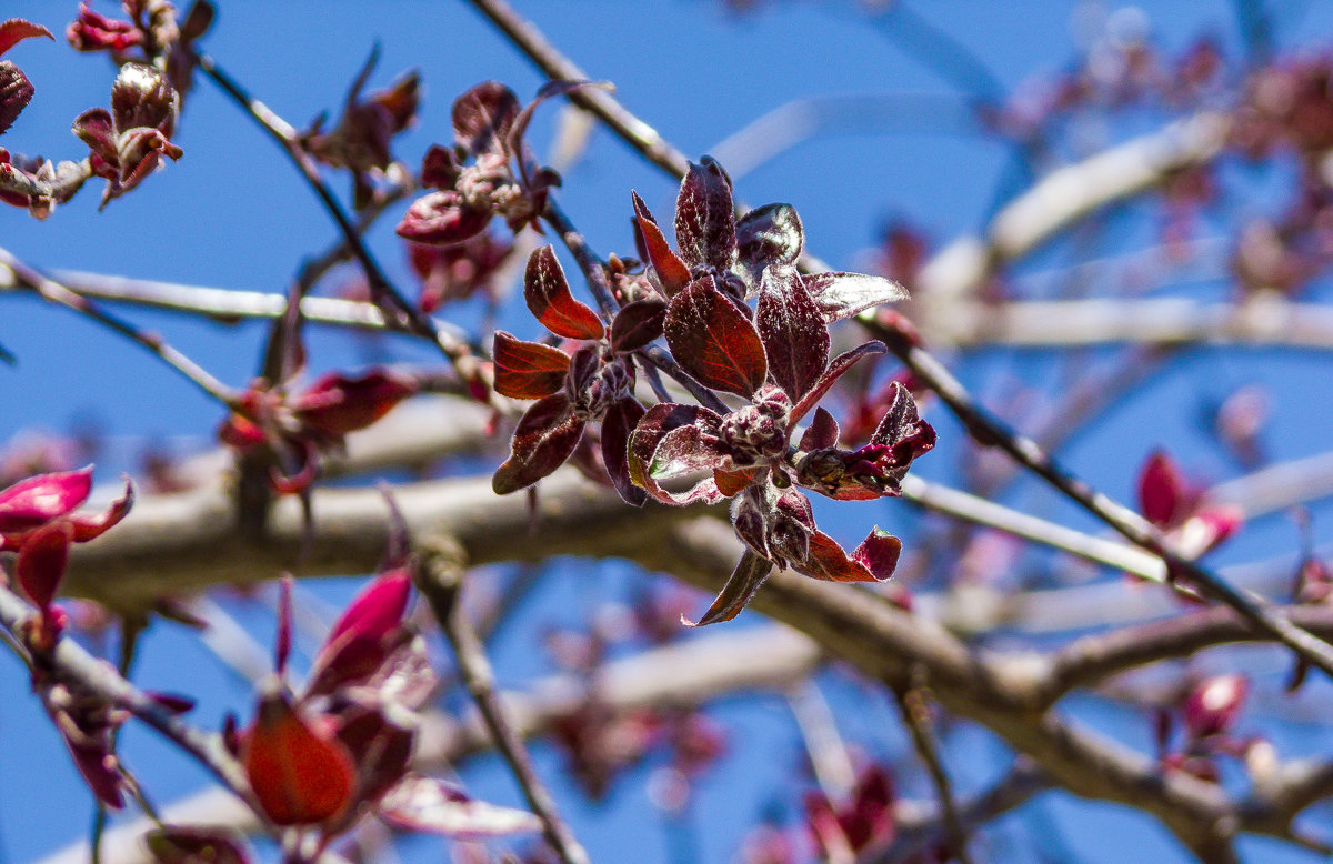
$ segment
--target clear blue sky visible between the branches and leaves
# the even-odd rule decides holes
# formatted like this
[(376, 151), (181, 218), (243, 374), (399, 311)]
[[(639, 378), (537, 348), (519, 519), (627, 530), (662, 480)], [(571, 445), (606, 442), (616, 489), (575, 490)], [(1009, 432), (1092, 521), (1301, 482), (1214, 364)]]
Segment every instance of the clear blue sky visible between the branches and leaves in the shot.
[[(1076, 53), (1070, 27), (1076, 5), (949, 0), (918, 3), (917, 8), (981, 57), (1005, 88), (1013, 88), (1070, 64)], [(1318, 47), (1333, 33), (1333, 19), (1320, 4), (1270, 5), (1284, 45)], [(868, 24), (861, 5), (852, 0), (773, 3), (746, 16), (704, 0), (529, 0), (520, 7), (589, 76), (615, 81), (627, 105), (690, 155), (706, 152), (745, 123), (793, 99), (909, 93), (949, 101), (958, 96), (952, 81), (905, 55), (885, 39), (880, 25)], [(115, 12), (109, 3), (97, 8)], [(1232, 57), (1238, 51), (1232, 3), (1157, 3), (1145, 8), (1156, 43), (1170, 55), (1202, 33), (1217, 35)], [(75, 11), (73, 3), (49, 1), (12, 1), (4, 9), (7, 16), (28, 17), (57, 33)], [(304, 127), (320, 111), (336, 116), (347, 84), (375, 40), (383, 45), (383, 59), (372, 87), (387, 84), (409, 67), (424, 76), (427, 99), (420, 124), (395, 145), (412, 164), (432, 141), (452, 137), (449, 103), (467, 87), (499, 79), (527, 96), (540, 84), (540, 77), (471, 8), (445, 0), (233, 0), (223, 3), (204, 45), (277, 113)], [(67, 129), (79, 112), (105, 104), (113, 79), (105, 57), (76, 55), (63, 41), (27, 41), (7, 59), (24, 68), (37, 95), (0, 144), (52, 159), (79, 156), (81, 145)], [(540, 115), (539, 151), (555, 113), (548, 108)], [(1120, 132), (1110, 129), (1110, 137)], [(280, 292), (304, 256), (335, 240), (329, 219), (284, 157), (203, 80), (191, 96), (177, 141), (185, 151), (180, 163), (149, 177), (103, 213), (96, 212), (96, 181), (45, 223), (17, 209), (0, 211), (0, 245), (39, 267)], [(1006, 164), (1004, 145), (970, 128), (941, 129), (937, 117), (918, 117), (913, 108), (904, 107), (893, 109), (882, 128), (821, 137), (785, 152), (738, 179), (737, 187), (750, 203), (794, 204), (810, 248), (834, 265), (854, 267), (858, 255), (876, 241), (877, 227), (894, 215), (909, 216), (940, 243), (976, 231), (992, 207)], [(1280, 173), (1240, 173), (1238, 181), (1258, 189), (1281, 187)], [(335, 184), (340, 191), (347, 188), (344, 177), (336, 177)], [(567, 176), (567, 187), (561, 203), (593, 245), (603, 252), (627, 253), (633, 248), (628, 232), (629, 189), (639, 189), (665, 217), (674, 183), (599, 129), (577, 169)], [(1261, 212), (1273, 200), (1272, 192), (1256, 195), (1245, 205), (1246, 212)], [(1221, 217), (1218, 225), (1230, 224), (1236, 216)], [(1142, 212), (1133, 208), (1118, 212), (1108, 224), (1108, 236), (1113, 244), (1141, 240), (1144, 220)], [(383, 220), (371, 239), (391, 275), (409, 285), (393, 224), (393, 217)], [(1066, 252), (1057, 247), (1041, 261), (1060, 264)], [(1220, 288), (1225, 284), (1204, 283), (1188, 291), (1209, 296)], [(99, 464), (103, 480), (131, 469), (145, 439), (181, 449), (208, 445), (220, 420), (217, 407), (156, 359), (37, 300), (5, 295), (0, 305), (0, 344), (20, 359), (17, 368), (0, 368), (0, 439), (24, 429), (68, 431), (95, 423), (112, 436), (112, 447)], [(243, 385), (253, 375), (263, 327), (225, 328), (136, 309), (125, 315), (160, 329), (229, 384)], [(475, 320), (476, 309), (463, 315), (464, 320)], [(520, 333), (536, 332), (531, 320), (512, 311), (503, 320)], [(433, 363), (432, 355), (403, 340), (392, 345), (395, 359)], [(316, 368), (356, 365), (364, 357), (364, 343), (345, 333), (324, 332), (312, 340)], [(1026, 356), (1013, 361), (988, 355), (968, 359), (960, 368), (978, 388), (1006, 380), (1041, 384), (1054, 377), (1046, 360)], [(1249, 383), (1270, 391), (1274, 419), (1268, 440), (1273, 455), (1309, 455), (1328, 443), (1322, 433), (1329, 421), (1326, 369), (1326, 359), (1320, 356), (1252, 352), (1224, 359), (1204, 353), (1153, 379), (1152, 387), (1081, 435), (1065, 455), (1076, 469), (1121, 500), (1129, 497), (1144, 453), (1160, 443), (1170, 444), (1192, 469), (1221, 479), (1234, 468), (1206, 447), (1197, 429), (1197, 412), (1206, 400)], [(940, 420), (945, 445), (922, 461), (921, 471), (949, 479), (956, 476), (950, 453), (957, 453), (949, 441), (958, 439), (958, 429)], [(1089, 524), (1033, 484), (1016, 485), (1008, 500), (1070, 524)], [(828, 524), (848, 540), (864, 535), (873, 520), (890, 528), (912, 520), (900, 504), (836, 513), (826, 517)], [(1292, 551), (1294, 531), (1286, 521), (1270, 519), (1248, 528), (1220, 560)], [(589, 579), (593, 572), (599, 579)], [(579, 625), (600, 601), (623, 597), (632, 579), (632, 569), (617, 564), (553, 568), (540, 603), (529, 605), (520, 625), (511, 627), (499, 643), (501, 683), (517, 687), (549, 671), (539, 649), (541, 629)], [(341, 603), (351, 591), (349, 583), (316, 588), (333, 603)], [(244, 603), (232, 608), (256, 627), (257, 637), (267, 644), (272, 624), (264, 609)], [(1281, 664), (1274, 657), (1264, 655), (1254, 668), (1276, 672)], [(909, 755), (904, 756), (906, 745), (892, 705), (836, 675), (825, 679), (840, 727), (852, 743), (872, 756), (913, 764)], [(172, 625), (159, 625), (149, 635), (137, 680), (145, 687), (189, 689), (200, 696), (195, 716), (203, 724), (219, 723), (227, 709), (248, 711), (248, 688), (191, 635)], [(1276, 675), (1265, 680), (1269, 691), (1274, 689)], [(27, 861), (83, 836), (91, 803), (37, 701), (27, 693), (16, 663), (0, 660), (0, 692), (11, 695), (0, 701), (0, 861)], [(1317, 712), (1328, 699), (1329, 688), (1316, 684), (1300, 704)], [(1253, 728), (1277, 728), (1273, 717), (1284, 703), (1274, 697), (1268, 705), (1266, 720), (1264, 711), (1256, 711), (1260, 716), (1252, 721)], [(1074, 709), (1085, 721), (1136, 747), (1150, 748), (1142, 715), (1092, 700)], [(804, 785), (793, 769), (800, 763), (797, 732), (780, 699), (728, 699), (712, 713), (728, 724), (730, 749), (702, 780), (692, 817), (701, 860), (725, 861), (768, 805), (797, 805)], [(1333, 744), (1322, 724), (1285, 725), (1280, 735), (1284, 753), (1326, 752)], [(996, 741), (982, 731), (957, 728), (948, 733), (948, 741), (953, 753), (949, 767), (964, 791), (984, 784), (1006, 764)], [(160, 803), (204, 783), (197, 768), (141, 729), (127, 732), (124, 752)], [(557, 777), (557, 793), (595, 860), (670, 860), (670, 844), (656, 827), (657, 816), (644, 792), (651, 765), (624, 777), (608, 805), (595, 807), (583, 803), (559, 777), (559, 755), (544, 747), (537, 748), (537, 755), (544, 773)], [(481, 796), (517, 801), (507, 775), (492, 760), (471, 765), (465, 777)], [(920, 783), (908, 787), (910, 793), (929, 793)], [(1320, 819), (1326, 828), (1328, 820)], [(1150, 820), (1062, 793), (1041, 796), (996, 825), (986, 840), (992, 860), (1181, 860), (1174, 843)], [(415, 841), (412, 852), (417, 857), (439, 856), (435, 844)], [(1262, 841), (1246, 843), (1245, 849), (1250, 860), (1309, 860)]]

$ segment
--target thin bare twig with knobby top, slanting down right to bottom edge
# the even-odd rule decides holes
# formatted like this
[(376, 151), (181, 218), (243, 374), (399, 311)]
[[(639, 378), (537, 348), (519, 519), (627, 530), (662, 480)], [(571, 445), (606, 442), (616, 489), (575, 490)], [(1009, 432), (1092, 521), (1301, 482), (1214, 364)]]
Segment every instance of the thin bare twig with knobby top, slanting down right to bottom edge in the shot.
[(588, 853), (556, 809), (555, 799), (533, 769), (528, 749), (496, 693), (491, 661), (487, 660), (485, 648), (463, 609), (461, 559), (463, 552), (457, 548), (424, 551), (413, 561), (413, 581), (431, 604), (440, 629), (449, 640), (459, 675), (477, 703), (496, 748), (519, 781), (528, 807), (541, 820), (547, 841), (564, 864), (588, 864)]

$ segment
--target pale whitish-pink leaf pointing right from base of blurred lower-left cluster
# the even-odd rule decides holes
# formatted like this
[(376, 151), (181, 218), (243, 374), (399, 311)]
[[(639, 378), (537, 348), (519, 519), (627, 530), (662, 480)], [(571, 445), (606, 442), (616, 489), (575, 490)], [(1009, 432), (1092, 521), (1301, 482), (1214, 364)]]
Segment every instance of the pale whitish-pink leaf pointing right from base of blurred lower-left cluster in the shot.
[(408, 775), (380, 800), (380, 819), (395, 828), (460, 840), (541, 831), (541, 821), (527, 811), (475, 801), (452, 784), (419, 775)]

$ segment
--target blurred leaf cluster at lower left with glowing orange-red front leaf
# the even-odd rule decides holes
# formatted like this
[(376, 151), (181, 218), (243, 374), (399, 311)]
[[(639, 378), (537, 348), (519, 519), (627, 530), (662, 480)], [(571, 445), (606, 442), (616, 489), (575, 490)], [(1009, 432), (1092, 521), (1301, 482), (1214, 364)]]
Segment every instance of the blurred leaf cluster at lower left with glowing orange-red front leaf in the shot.
[(276, 673), (260, 688), (255, 717), (224, 741), (245, 768), (261, 815), (295, 832), (309, 860), (373, 815), (404, 831), (487, 837), (539, 828), (531, 813), (469, 799), (411, 771), (417, 712), (437, 683), (424, 639), (404, 623), (411, 577), (376, 577), (333, 624), (305, 685), (288, 683), (291, 583), (283, 583)]

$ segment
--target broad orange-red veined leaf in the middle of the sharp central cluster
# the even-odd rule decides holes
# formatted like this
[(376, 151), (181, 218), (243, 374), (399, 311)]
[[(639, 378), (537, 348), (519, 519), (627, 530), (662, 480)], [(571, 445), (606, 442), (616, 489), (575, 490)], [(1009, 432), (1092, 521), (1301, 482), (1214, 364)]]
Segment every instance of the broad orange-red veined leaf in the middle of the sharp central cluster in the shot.
[(666, 344), (700, 384), (750, 396), (768, 375), (758, 332), (712, 276), (697, 279), (666, 308)]

